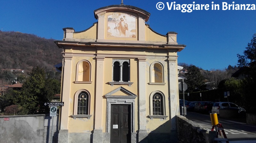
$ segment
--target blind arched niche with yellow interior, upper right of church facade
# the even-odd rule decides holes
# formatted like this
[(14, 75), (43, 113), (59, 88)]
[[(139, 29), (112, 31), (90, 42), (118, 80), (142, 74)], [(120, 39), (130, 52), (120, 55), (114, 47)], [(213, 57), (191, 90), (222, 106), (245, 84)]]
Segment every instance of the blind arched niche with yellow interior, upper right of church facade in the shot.
[(165, 84), (164, 83), (164, 66), (159, 62), (150, 65), (150, 83), (149, 84)]

